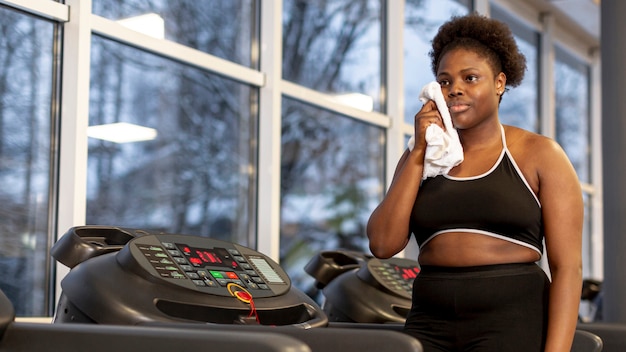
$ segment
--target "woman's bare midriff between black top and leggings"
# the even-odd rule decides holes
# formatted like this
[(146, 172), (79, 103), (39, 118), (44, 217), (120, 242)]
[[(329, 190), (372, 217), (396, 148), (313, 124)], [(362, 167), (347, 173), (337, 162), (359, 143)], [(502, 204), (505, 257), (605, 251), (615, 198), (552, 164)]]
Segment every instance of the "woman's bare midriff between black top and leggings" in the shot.
[(540, 259), (537, 251), (495, 237), (465, 232), (437, 235), (420, 249), (421, 265), (476, 266), (530, 263)]

